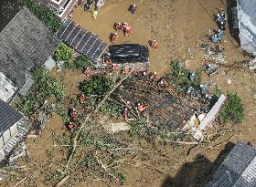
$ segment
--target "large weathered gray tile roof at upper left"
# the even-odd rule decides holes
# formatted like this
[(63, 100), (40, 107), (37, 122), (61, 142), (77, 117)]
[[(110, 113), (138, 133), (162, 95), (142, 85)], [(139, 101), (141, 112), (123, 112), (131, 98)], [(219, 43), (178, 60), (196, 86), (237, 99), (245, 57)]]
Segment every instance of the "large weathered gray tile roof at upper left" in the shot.
[(24, 7), (0, 33), (0, 44), (0, 72), (20, 89), (28, 72), (41, 67), (60, 40)]

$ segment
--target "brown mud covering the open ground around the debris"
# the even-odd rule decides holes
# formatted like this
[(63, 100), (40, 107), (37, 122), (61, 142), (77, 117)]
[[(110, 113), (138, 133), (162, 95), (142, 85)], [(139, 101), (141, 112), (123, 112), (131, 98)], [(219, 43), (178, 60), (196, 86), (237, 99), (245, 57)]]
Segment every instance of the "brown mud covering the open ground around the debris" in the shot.
[[(134, 2), (138, 9), (135, 15), (132, 15), (127, 9)], [(133, 34), (124, 37), (120, 33), (117, 44), (139, 43), (149, 47), (148, 40), (155, 37), (159, 48), (155, 50), (149, 47), (150, 68), (158, 74), (164, 74), (169, 70), (172, 59), (187, 59), (187, 68), (194, 69), (202, 66), (203, 52), (197, 47), (197, 39), (204, 37), (208, 29), (217, 29), (212, 15), (218, 12), (218, 8), (226, 9), (226, 2), (220, 0), (108, 0), (101, 8), (97, 20), (93, 20), (91, 13), (84, 12), (80, 6), (74, 10), (74, 20), (105, 41), (109, 41), (109, 35), (114, 32), (112, 26), (115, 22), (128, 22), (133, 26)], [(229, 29), (225, 31), (221, 46), (226, 49), (228, 64), (248, 58), (242, 56), (240, 47), (229, 35)], [(188, 53), (188, 50), (191, 53)], [(80, 71), (65, 71), (64, 74), (62, 78), (69, 88), (69, 96), (78, 94), (78, 82), (83, 79)], [(72, 78), (75, 78), (75, 81), (70, 81)], [(231, 79), (230, 84), (228, 79)], [(232, 142), (251, 141), (252, 145), (256, 145), (255, 75), (242, 68), (220, 68), (218, 73), (211, 77), (204, 75), (203, 81), (219, 85), (225, 94), (237, 92), (246, 110), (244, 122), (239, 125), (215, 127), (209, 132), (210, 142), (197, 147), (184, 145), (176, 149), (176, 146), (160, 141), (156, 141), (155, 144), (144, 142), (142, 148), (150, 158), (144, 162), (148, 165), (123, 163), (123, 173), (126, 176), (123, 186), (172, 187), (172, 182), (175, 182), (174, 186), (177, 187), (200, 187), (208, 181), (210, 174), (223, 161), (232, 147)], [(54, 115), (48, 120), (46, 129), (40, 137), (36, 140), (27, 139), (27, 149), (32, 159), (26, 163), (29, 169), (19, 179), (14, 177), (13, 181), (7, 181), (1, 186), (14, 186), (24, 176), (27, 176), (32, 183), (26, 179), (19, 186), (54, 185), (54, 183), (46, 184), (44, 181), (51, 175), (50, 171), (62, 168), (58, 163), (64, 155), (63, 148), (54, 146), (53, 141), (58, 136), (67, 135), (68, 132), (63, 130), (62, 123), (58, 115)], [(211, 146), (219, 143), (219, 146), (212, 149)], [(49, 151), (53, 151), (52, 160), (56, 163), (52, 163), (52, 170), (48, 171)], [(187, 152), (187, 157), (184, 152)], [(76, 173), (73, 174), (76, 175)], [(88, 181), (75, 185), (69, 185), (68, 181), (66, 185), (108, 186), (107, 182), (102, 180), (91, 181), (88, 176), (84, 178)], [(110, 186), (120, 186), (120, 184), (113, 182)]]

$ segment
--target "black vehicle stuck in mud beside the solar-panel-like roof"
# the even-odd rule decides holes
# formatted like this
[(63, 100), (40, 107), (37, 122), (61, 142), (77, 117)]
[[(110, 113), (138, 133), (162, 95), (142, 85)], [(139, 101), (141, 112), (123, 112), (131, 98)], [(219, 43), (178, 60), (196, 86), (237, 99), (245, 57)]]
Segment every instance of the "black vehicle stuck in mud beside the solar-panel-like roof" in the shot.
[(138, 44), (112, 45), (109, 47), (112, 62), (133, 63), (148, 62), (149, 51), (147, 47)]

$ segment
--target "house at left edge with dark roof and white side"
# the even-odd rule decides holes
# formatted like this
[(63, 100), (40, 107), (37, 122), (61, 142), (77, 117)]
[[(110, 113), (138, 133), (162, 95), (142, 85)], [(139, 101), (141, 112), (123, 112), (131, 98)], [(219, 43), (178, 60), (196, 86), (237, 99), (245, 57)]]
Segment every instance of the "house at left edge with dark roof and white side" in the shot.
[(27, 136), (27, 121), (12, 106), (0, 99), (0, 161)]

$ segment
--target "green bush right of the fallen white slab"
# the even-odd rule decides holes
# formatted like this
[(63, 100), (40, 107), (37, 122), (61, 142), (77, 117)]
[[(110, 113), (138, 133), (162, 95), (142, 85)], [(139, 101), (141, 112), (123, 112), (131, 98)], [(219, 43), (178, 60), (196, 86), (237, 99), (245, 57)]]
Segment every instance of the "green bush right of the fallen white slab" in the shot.
[(229, 121), (240, 123), (244, 119), (244, 108), (237, 94), (228, 95), (228, 102), (219, 117), (224, 123)]

